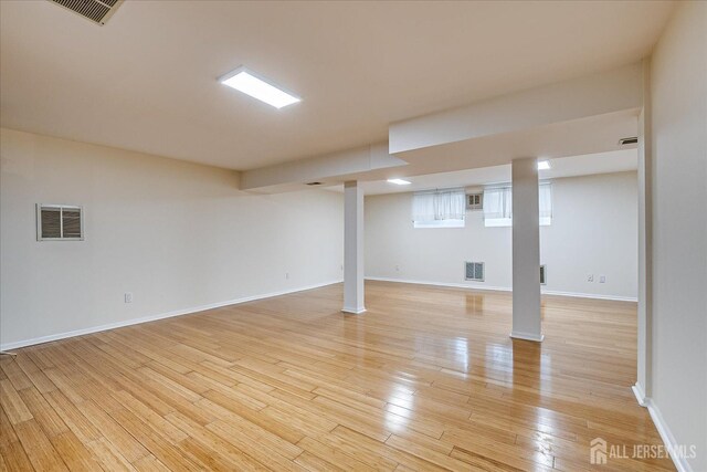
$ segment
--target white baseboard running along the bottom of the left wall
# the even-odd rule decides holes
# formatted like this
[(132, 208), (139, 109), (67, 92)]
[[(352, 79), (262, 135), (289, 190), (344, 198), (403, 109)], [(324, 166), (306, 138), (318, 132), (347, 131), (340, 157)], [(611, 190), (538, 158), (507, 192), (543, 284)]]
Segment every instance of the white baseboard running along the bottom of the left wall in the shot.
[(245, 302), (253, 302), (255, 300), (271, 298), (273, 296), (287, 295), (289, 293), (304, 292), (306, 290), (312, 290), (312, 289), (319, 289), (323, 286), (333, 285), (341, 282), (342, 281), (340, 280), (334, 281), (334, 282), (324, 282), (324, 283), (307, 285), (298, 289), (288, 289), (288, 290), (277, 291), (277, 292), (265, 293), (261, 295), (251, 295), (242, 298), (229, 300), (225, 302), (217, 302), (217, 303), (210, 303), (207, 305), (192, 306), (190, 308), (175, 310), (172, 312), (160, 313), (158, 315), (143, 316), (140, 318), (133, 318), (133, 319), (127, 319), (123, 322), (108, 323), (99, 326), (92, 326), (88, 328), (75, 329), (71, 332), (52, 334), (48, 336), (40, 336), (32, 339), (23, 339), (14, 343), (0, 344), (0, 350), (18, 349), (20, 347), (33, 346), (35, 344), (42, 344), (42, 343), (50, 343), (52, 340), (66, 339), (68, 337), (74, 337), (74, 336), (83, 336), (86, 334), (98, 333), (107, 329), (115, 329), (124, 326), (131, 326), (131, 325), (138, 325), (141, 323), (155, 322), (158, 319), (171, 318), (173, 316), (189, 315), (192, 313), (204, 312), (207, 310), (220, 308), (222, 306), (238, 305)]

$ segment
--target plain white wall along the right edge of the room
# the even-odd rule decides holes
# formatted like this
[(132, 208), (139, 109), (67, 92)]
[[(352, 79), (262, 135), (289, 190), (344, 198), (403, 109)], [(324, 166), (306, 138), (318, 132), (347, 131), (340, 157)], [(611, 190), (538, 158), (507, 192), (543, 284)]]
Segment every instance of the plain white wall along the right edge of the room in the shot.
[(707, 471), (707, 2), (683, 2), (651, 61), (654, 408)]

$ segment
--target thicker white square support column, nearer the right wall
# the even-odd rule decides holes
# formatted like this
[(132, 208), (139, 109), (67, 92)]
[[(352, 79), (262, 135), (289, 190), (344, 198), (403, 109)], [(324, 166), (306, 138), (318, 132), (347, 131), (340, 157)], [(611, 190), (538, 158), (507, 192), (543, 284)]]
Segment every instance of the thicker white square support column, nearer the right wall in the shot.
[(515, 159), (513, 175), (513, 333), (542, 340), (540, 323), (540, 210), (538, 160)]

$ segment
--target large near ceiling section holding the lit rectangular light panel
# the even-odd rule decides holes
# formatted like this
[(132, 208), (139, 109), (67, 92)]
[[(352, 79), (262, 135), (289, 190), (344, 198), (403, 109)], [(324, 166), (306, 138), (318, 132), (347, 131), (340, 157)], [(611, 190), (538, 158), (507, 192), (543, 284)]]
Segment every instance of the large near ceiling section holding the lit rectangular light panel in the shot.
[[(645, 56), (671, 2), (126, 1), (98, 27), (0, 2), (2, 126), (239, 170)], [(303, 97), (220, 85), (244, 64)]]

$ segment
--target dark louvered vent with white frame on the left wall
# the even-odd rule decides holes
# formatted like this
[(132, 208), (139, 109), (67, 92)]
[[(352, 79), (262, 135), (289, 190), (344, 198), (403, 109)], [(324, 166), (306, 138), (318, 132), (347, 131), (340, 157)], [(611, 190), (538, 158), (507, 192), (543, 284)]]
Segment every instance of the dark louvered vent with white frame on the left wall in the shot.
[(82, 241), (83, 208), (66, 204), (36, 204), (38, 241)]

